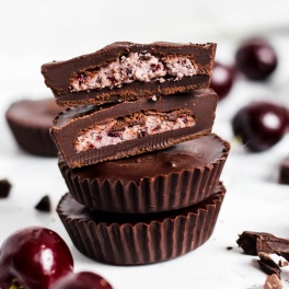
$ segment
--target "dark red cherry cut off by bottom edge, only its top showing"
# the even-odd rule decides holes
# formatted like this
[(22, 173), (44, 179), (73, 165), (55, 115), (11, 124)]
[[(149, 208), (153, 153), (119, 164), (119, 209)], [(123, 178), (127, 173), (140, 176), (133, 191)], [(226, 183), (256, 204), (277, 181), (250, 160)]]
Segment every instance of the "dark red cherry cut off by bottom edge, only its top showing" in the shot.
[(69, 274), (50, 289), (113, 289), (100, 275), (92, 271)]

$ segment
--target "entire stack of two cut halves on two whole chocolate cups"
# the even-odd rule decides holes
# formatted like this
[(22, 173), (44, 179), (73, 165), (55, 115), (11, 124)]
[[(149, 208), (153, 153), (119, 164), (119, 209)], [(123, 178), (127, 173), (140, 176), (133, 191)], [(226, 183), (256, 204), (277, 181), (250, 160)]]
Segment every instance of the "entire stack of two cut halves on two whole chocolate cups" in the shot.
[(114, 43), (42, 67), (60, 106), (50, 130), (69, 193), (57, 212), (77, 248), (137, 265), (211, 235), (230, 146), (210, 134), (216, 44)]

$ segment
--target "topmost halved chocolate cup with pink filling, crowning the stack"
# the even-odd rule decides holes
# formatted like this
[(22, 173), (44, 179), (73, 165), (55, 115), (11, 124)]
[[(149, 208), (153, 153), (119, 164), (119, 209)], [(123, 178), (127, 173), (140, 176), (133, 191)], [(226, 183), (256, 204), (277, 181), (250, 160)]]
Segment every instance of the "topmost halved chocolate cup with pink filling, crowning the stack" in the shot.
[(216, 44), (114, 43), (42, 66), (59, 105), (149, 99), (208, 88)]

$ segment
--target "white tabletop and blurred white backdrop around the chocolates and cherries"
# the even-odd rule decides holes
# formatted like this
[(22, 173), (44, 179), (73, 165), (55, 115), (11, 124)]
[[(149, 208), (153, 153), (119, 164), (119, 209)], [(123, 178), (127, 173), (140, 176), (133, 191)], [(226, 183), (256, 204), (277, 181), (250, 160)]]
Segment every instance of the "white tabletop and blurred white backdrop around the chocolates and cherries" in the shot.
[[(122, 3), (120, 3), (122, 2)], [(41, 65), (91, 53), (114, 41), (218, 42), (217, 59), (232, 62), (239, 41), (258, 33), (268, 37), (280, 59), (274, 78), (265, 84), (239, 80), (220, 102), (213, 131), (232, 141), (230, 119), (253, 99), (289, 106), (288, 1), (2, 1), (0, 10), (0, 178), (13, 184), (0, 199), (0, 242), (26, 226), (57, 231), (74, 257), (76, 271), (93, 270), (115, 289), (262, 288), (265, 274), (256, 257), (245, 256), (235, 240), (244, 230), (266, 231), (289, 238), (289, 186), (277, 184), (278, 164), (289, 154), (289, 136), (273, 149), (247, 153), (232, 142), (222, 173), (228, 193), (211, 239), (185, 256), (155, 265), (107, 266), (81, 255), (69, 240), (57, 215), (34, 209), (48, 194), (54, 208), (66, 192), (56, 159), (25, 154), (5, 124), (11, 102), (50, 95)], [(253, 4), (254, 2), (254, 4)], [(213, 9), (210, 4), (213, 4)], [(203, 10), (198, 11), (200, 7)], [(66, 10), (68, 9), (68, 10)], [(233, 250), (228, 251), (228, 246)], [(282, 269), (285, 288), (289, 269)]]

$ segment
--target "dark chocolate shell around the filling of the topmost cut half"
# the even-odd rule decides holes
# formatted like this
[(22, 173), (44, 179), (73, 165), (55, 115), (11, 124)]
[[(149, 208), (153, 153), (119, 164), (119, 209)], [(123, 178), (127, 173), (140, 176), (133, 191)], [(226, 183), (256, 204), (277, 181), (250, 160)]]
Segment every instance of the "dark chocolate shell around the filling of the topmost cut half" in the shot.
[[(208, 44), (132, 44), (117, 42), (105, 46), (92, 54), (79, 56), (66, 61), (54, 61), (42, 66), (45, 83), (54, 92), (59, 105), (77, 106), (83, 104), (102, 104), (124, 100), (137, 100), (152, 95), (167, 95), (186, 92), (200, 88), (208, 88), (215, 60), (217, 45)], [(193, 77), (184, 77), (180, 81), (132, 82), (122, 88), (90, 90), (81, 92), (70, 91), (70, 80), (77, 73), (90, 69), (97, 69), (119, 59), (129, 53), (150, 53), (157, 57), (187, 56), (198, 66), (199, 72)]]

